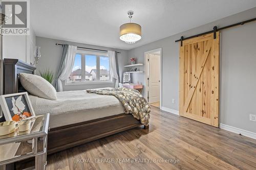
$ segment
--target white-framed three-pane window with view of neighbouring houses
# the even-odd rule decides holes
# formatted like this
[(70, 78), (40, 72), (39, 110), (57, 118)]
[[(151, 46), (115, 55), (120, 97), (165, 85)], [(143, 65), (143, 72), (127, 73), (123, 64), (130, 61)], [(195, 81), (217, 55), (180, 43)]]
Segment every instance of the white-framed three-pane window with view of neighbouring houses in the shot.
[(108, 54), (78, 51), (67, 83), (102, 82), (112, 82)]

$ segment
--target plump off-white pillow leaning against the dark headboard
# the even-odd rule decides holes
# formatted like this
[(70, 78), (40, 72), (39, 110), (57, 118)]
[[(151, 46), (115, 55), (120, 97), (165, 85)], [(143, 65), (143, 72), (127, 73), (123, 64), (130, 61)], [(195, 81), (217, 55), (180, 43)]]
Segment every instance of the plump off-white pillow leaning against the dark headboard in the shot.
[(30, 94), (39, 98), (57, 100), (55, 88), (44, 78), (37, 75), (20, 73), (19, 80)]

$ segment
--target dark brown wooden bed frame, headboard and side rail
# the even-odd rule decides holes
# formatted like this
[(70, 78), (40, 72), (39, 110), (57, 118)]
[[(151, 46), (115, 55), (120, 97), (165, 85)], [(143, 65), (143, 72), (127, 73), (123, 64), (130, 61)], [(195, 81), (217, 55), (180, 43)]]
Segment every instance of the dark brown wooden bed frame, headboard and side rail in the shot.
[[(4, 94), (26, 91), (19, 82), (18, 73), (35, 74), (35, 67), (17, 59), (4, 59)], [(86, 122), (49, 129), (47, 154), (141, 126), (131, 114), (118, 114)], [(148, 129), (148, 126), (144, 126)]]

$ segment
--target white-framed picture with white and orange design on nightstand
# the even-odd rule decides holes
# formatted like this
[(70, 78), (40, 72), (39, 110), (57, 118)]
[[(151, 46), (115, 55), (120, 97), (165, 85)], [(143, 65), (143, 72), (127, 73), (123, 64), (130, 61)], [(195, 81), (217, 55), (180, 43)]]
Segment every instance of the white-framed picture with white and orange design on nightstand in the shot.
[(18, 122), (35, 116), (27, 92), (1, 95), (0, 105), (6, 121), (14, 120)]

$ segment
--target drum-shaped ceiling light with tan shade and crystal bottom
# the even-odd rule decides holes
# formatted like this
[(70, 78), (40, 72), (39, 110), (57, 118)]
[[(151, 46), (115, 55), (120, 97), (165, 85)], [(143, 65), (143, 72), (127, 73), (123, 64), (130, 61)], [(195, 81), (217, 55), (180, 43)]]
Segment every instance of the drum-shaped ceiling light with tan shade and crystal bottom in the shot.
[(137, 23), (132, 23), (131, 19), (133, 17), (134, 12), (128, 11), (127, 14), (130, 18), (130, 23), (124, 23), (120, 26), (120, 40), (133, 44), (141, 39), (141, 26)]

